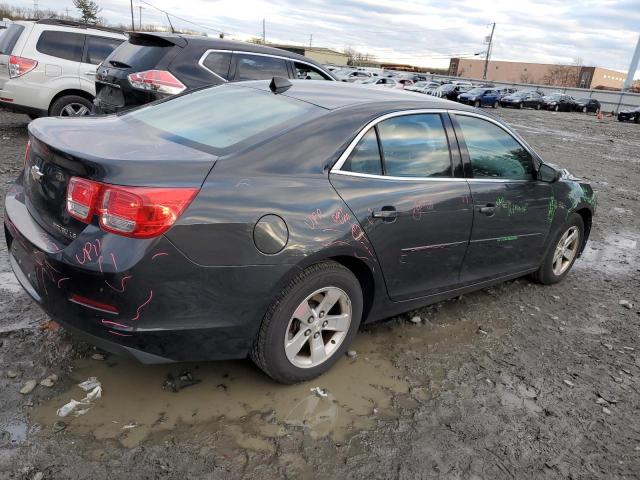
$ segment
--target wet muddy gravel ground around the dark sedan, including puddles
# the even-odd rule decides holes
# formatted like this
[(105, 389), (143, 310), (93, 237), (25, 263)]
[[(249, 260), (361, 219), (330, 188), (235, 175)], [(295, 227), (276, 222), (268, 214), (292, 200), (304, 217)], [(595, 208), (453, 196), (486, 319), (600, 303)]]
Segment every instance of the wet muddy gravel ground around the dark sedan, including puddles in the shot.
[[(21, 291), (2, 238), (0, 478), (640, 477), (640, 126), (498, 113), (593, 182), (583, 258), (558, 285), (523, 278), (368, 327), (355, 358), (309, 384), (275, 385), (248, 361), (93, 359)], [(2, 197), (27, 120), (0, 112)], [(201, 382), (162, 389), (186, 369)], [(52, 373), (53, 387), (19, 393)], [(56, 418), (91, 376), (102, 398)]]

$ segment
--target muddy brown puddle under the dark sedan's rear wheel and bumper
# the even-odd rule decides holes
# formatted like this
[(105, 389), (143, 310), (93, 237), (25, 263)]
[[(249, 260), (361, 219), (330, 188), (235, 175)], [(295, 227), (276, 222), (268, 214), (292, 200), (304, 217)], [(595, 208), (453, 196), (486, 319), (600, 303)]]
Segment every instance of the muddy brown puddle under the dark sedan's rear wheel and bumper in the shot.
[[(67, 431), (118, 439), (132, 447), (152, 433), (224, 417), (225, 423), (244, 424), (230, 431), (246, 448), (268, 449), (270, 444), (260, 436), (281, 436), (292, 426), (309, 429), (313, 437), (341, 441), (372, 427), (376, 416), (395, 416), (393, 395), (408, 391), (400, 371), (391, 364), (391, 355), (376, 351), (369, 335), (359, 335), (353, 348), (358, 351), (356, 359), (345, 357), (322, 377), (291, 386), (274, 383), (249, 361), (167, 366), (124, 359), (81, 360), (71, 375), (71, 388), (39, 406), (31, 420), (52, 426), (61, 420), (56, 416), (58, 408), (84, 396), (76, 384), (97, 377), (102, 398), (85, 415), (62, 419), (68, 423)], [(177, 376), (183, 370), (190, 370), (201, 382), (177, 393), (161, 388), (168, 372)], [(325, 390), (327, 396), (312, 392), (314, 387)], [(136, 427), (123, 430), (131, 424)], [(259, 436), (247, 435), (247, 429)]]

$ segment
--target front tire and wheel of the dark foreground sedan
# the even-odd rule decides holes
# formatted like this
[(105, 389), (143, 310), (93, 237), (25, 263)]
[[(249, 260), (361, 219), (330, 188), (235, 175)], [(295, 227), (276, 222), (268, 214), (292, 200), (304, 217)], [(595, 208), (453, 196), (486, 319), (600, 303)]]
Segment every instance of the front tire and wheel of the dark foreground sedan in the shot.
[(540, 268), (532, 275), (533, 279), (550, 285), (566, 277), (580, 254), (583, 238), (584, 221), (580, 215), (572, 213), (550, 244)]

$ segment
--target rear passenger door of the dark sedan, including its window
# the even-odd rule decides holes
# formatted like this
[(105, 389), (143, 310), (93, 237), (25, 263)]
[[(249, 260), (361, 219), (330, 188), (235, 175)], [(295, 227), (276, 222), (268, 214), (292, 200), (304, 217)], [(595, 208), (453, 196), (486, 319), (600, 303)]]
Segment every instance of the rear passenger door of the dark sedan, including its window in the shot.
[(389, 114), (368, 125), (332, 169), (331, 183), (364, 228), (393, 300), (459, 281), (473, 213), (450, 141), (444, 112)]

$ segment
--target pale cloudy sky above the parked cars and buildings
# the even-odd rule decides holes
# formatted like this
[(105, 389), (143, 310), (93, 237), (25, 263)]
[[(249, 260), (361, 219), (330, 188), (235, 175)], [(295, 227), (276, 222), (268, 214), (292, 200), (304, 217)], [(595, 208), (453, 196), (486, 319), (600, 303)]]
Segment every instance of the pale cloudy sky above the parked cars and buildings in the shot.
[[(29, 0), (4, 0), (32, 7)], [(111, 23), (131, 23), (129, 0), (96, 0)], [(354, 48), (379, 59), (446, 67), (449, 57), (484, 52), (496, 22), (492, 58), (595, 65), (626, 72), (640, 34), (640, 0), (149, 0), (215, 35)], [(133, 0), (143, 23), (166, 24), (163, 14)], [(39, 0), (40, 8), (75, 12), (71, 0)], [(215, 30), (206, 30), (209, 27)], [(479, 57), (476, 57), (479, 58)], [(636, 78), (640, 74), (636, 75)]]

